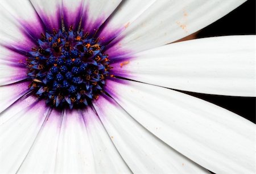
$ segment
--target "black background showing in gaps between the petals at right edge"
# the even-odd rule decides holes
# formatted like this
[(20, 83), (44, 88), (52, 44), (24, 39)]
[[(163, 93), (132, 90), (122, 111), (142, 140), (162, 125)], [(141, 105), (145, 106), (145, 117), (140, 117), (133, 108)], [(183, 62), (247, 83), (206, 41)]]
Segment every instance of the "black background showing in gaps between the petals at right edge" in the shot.
[[(243, 3), (236, 10), (202, 29), (197, 34), (197, 37), (225, 35), (255, 35), (255, 0), (249, 0)], [(217, 96), (197, 94), (194, 92), (184, 93), (210, 101), (255, 122), (255, 97)]]

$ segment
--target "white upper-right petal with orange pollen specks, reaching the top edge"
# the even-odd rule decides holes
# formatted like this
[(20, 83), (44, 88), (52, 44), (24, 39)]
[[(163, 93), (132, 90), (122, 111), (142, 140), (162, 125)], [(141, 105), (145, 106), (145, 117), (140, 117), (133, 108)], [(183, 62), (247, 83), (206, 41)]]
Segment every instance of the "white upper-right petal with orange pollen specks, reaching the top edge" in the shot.
[(191, 0), (156, 1), (135, 22), (119, 35), (108, 54), (142, 50), (172, 43), (220, 19), (240, 6), (242, 1)]

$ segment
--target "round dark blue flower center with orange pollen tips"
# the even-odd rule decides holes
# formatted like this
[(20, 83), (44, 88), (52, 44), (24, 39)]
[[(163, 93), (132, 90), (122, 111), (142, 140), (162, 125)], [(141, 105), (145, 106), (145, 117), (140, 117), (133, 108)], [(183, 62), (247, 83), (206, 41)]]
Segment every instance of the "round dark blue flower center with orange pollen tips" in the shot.
[(72, 26), (41, 35), (27, 58), (30, 90), (55, 107), (86, 106), (97, 99), (111, 68), (99, 40)]

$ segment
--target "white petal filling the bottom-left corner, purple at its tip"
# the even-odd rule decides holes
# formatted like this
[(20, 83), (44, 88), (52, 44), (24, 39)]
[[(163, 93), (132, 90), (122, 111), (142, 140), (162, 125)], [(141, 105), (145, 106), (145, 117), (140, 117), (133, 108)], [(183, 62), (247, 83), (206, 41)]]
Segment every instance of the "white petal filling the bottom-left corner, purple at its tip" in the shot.
[(0, 125), (1, 173), (18, 171), (46, 118), (47, 108), (44, 107), (44, 102), (24, 108), (27, 106), (26, 103), (27, 100), (19, 103), (18, 111), (16, 107), (10, 107), (2, 113), (11, 118)]

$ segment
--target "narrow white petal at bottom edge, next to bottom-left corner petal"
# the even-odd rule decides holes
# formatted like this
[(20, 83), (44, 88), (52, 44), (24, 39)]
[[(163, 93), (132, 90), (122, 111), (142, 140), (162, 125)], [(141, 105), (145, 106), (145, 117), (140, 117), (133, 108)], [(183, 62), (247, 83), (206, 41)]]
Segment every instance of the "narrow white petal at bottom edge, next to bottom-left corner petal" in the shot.
[[(44, 101), (43, 101), (44, 104)], [(45, 105), (45, 104), (44, 104)], [(34, 117), (33, 114), (31, 116)], [(49, 111), (18, 173), (53, 173), (63, 114)], [(36, 122), (34, 122), (36, 125)], [(31, 137), (29, 137), (32, 139)]]

